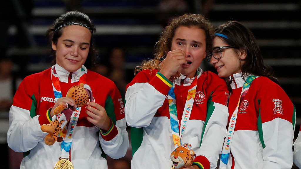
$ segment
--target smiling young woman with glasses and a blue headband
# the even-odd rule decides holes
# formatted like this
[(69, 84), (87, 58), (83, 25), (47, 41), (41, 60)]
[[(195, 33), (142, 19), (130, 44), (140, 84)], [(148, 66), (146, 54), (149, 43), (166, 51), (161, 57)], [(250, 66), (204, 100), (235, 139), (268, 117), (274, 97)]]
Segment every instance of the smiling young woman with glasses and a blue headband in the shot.
[(230, 89), (228, 130), (220, 168), (291, 168), (296, 110), (252, 32), (237, 21), (216, 28), (207, 54)]

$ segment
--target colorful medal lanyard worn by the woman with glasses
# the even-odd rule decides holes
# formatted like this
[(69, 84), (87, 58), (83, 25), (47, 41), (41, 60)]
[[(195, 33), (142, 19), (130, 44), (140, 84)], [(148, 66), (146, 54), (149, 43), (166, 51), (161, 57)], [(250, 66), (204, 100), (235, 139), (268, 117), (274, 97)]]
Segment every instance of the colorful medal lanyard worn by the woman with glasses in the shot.
[(257, 77), (256, 76), (248, 76), (247, 80), (245, 81), (245, 83), (243, 85), (243, 88), (241, 89), (240, 99), (238, 100), (237, 106), (236, 106), (236, 108), (233, 112), (233, 115), (230, 119), (230, 122), (229, 122), (227, 136), (226, 136), (224, 146), (222, 149), (221, 160), (219, 162), (220, 169), (226, 169), (226, 167), (227, 167), (228, 159), (229, 159), (229, 155), (230, 155), (231, 143), (233, 140), (234, 128), (235, 128), (237, 115), (238, 115), (238, 113), (237, 113), (238, 108), (239, 108), (240, 103), (244, 102), (242, 100), (244, 99), (247, 92), (249, 91), (250, 85), (255, 78), (257, 78)]

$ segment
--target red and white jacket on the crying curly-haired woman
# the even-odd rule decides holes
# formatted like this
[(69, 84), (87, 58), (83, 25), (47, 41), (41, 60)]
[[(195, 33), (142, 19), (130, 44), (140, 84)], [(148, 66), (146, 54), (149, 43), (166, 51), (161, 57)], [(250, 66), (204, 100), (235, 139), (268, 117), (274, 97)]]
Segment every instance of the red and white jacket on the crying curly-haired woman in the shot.
[[(125, 117), (127, 124), (132, 127), (132, 169), (172, 166), (170, 153), (175, 147), (167, 99), (172, 82), (157, 72), (143, 70), (127, 85)], [(216, 74), (198, 69), (197, 76), (194, 105), (182, 143), (190, 143), (196, 155), (199, 155), (196, 162), (211, 169), (216, 168), (226, 135), (229, 95), (225, 81)], [(195, 77), (184, 78), (182, 75), (174, 81), (179, 121)]]

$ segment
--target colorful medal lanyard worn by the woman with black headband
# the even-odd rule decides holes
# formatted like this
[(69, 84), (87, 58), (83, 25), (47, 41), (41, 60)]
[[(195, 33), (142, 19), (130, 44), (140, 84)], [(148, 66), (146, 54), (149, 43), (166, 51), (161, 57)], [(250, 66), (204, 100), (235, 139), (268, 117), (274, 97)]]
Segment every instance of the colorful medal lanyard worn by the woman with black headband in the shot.
[[(81, 68), (78, 84), (86, 83), (86, 73), (87, 73), (87, 69), (85, 69), (85, 67), (83, 66)], [(54, 98), (55, 98), (55, 100), (57, 100), (58, 98), (62, 97), (62, 91), (61, 91), (61, 86), (60, 86), (60, 81), (59, 81), (58, 75), (55, 71), (55, 65), (51, 67), (51, 82), (52, 82), (52, 88), (53, 88), (53, 92), (54, 92)], [(76, 110), (71, 115), (68, 130), (66, 131), (66, 129), (64, 128), (64, 130), (60, 133), (60, 136), (64, 137), (64, 140), (61, 142), (61, 151), (62, 151), (61, 158), (69, 159), (69, 161), (71, 161), (70, 149), (71, 149), (71, 143), (73, 140), (72, 133), (76, 127), (78, 117), (80, 114), (80, 110), (81, 110), (81, 107), (76, 108)], [(57, 119), (59, 119), (59, 117), (60, 117), (60, 114), (56, 115)], [(67, 137), (63, 133), (66, 133)]]

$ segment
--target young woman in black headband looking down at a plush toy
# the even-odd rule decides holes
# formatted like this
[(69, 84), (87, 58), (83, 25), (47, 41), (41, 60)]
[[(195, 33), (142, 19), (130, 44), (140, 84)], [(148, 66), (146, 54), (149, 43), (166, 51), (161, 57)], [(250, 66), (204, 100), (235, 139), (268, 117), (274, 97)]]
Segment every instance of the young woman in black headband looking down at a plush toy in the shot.
[[(21, 168), (54, 168), (62, 159), (71, 168), (107, 168), (102, 154), (115, 159), (126, 154), (129, 138), (120, 93), (113, 81), (89, 70), (97, 56), (95, 32), (89, 17), (79, 11), (62, 14), (48, 29), (54, 65), (24, 78), (10, 109), (8, 146), (24, 152)], [(79, 83), (88, 84), (93, 93), (80, 109), (71, 97), (62, 97)], [(56, 118), (53, 110), (60, 104), (76, 108), (75, 120), (60, 135), (68, 137), (48, 146), (41, 125)]]

